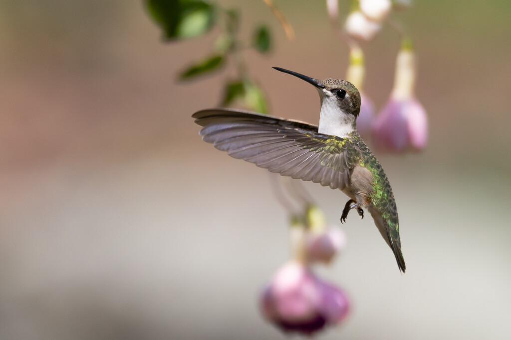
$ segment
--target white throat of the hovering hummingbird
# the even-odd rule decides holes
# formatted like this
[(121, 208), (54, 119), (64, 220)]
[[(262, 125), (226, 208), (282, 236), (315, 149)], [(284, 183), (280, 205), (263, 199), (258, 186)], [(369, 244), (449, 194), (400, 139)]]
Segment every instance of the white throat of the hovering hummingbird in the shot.
[(337, 99), (324, 89), (318, 89), (321, 97), (321, 112), (319, 114), (320, 134), (347, 137), (354, 130), (355, 117), (341, 110)]

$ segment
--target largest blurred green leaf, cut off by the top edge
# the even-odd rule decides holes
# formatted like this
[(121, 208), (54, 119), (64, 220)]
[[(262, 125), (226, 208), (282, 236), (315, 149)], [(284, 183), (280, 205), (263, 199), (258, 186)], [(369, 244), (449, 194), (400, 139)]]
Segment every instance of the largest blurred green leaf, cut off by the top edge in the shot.
[(149, 13), (167, 40), (192, 38), (215, 23), (215, 6), (200, 0), (146, 0)]

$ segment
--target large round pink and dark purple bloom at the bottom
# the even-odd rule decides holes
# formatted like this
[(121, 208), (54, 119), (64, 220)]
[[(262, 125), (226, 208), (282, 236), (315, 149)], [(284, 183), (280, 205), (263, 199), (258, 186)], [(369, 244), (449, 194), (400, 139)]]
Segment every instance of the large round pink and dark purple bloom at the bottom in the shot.
[(311, 335), (339, 323), (348, 309), (342, 290), (295, 260), (277, 270), (261, 295), (263, 316), (287, 332)]

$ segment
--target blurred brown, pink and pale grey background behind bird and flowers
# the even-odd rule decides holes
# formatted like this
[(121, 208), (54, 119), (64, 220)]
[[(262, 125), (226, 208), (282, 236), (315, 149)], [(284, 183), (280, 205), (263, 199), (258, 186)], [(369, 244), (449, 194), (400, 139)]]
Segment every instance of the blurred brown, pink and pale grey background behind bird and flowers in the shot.
[[(317, 123), (316, 91), (271, 66), (344, 76), (324, 2), (277, 3), (294, 41), (263, 2), (219, 3), (241, 8), (242, 35), (274, 32), (272, 54), (245, 54), (270, 112)], [(509, 14), (505, 0), (431, 0), (397, 16), (430, 119), (425, 152), (377, 154), (407, 272), (351, 215), (347, 250), (319, 269), (351, 315), (318, 338), (511, 338)], [(0, 3), (0, 338), (286, 337), (257, 305), (288, 258), (286, 213), (267, 172), (203, 143), (190, 117), (218, 106), (234, 68), (175, 80), (214, 37), (163, 43), (140, 1)], [(381, 108), (399, 40), (386, 27), (364, 48)], [(306, 187), (340, 225), (346, 197)]]

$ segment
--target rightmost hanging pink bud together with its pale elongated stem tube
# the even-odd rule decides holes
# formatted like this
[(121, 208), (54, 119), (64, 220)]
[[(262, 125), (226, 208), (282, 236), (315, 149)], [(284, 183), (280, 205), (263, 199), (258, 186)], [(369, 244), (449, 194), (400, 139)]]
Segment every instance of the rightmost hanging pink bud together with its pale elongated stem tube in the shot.
[(415, 98), (415, 55), (409, 41), (398, 54), (394, 88), (373, 124), (375, 147), (389, 152), (420, 151), (428, 141), (426, 111)]

